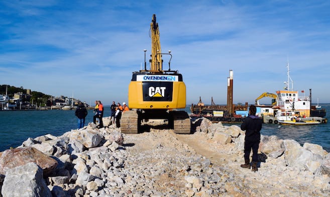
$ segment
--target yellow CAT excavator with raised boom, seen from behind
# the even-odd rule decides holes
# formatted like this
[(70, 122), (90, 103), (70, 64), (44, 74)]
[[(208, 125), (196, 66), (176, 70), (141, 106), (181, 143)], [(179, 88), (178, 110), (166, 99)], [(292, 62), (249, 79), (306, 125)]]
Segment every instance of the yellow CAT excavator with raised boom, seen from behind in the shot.
[[(171, 70), (171, 51), (162, 53), (156, 15), (150, 24), (151, 59), (147, 69), (146, 50), (144, 69), (133, 72), (128, 91), (129, 108), (122, 114), (121, 131), (123, 133), (139, 133), (141, 123), (149, 119), (168, 121), (169, 129), (175, 133), (190, 133), (190, 119), (184, 109), (186, 107), (186, 86), (182, 75)], [(169, 56), (168, 69), (163, 69), (163, 55)]]

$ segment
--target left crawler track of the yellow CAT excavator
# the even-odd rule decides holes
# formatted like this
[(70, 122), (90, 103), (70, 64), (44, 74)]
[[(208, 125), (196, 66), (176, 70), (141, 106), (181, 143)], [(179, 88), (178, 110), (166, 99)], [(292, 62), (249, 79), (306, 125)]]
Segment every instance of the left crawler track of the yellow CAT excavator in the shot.
[(126, 111), (121, 118), (122, 133), (138, 133), (138, 114), (136, 111)]

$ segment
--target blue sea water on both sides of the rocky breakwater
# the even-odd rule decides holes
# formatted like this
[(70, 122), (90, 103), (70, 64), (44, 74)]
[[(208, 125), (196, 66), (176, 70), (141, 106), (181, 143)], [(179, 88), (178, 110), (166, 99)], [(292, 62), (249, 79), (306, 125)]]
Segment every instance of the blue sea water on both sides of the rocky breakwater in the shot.
[[(330, 120), (330, 105), (321, 105)], [(184, 109), (190, 113), (189, 107)], [(0, 152), (20, 146), (29, 137), (51, 134), (61, 136), (77, 129), (74, 110), (45, 111), (0, 111)], [(110, 116), (109, 106), (104, 106), (103, 117)], [(93, 110), (88, 110), (85, 125), (93, 122)], [(230, 124), (224, 124), (230, 126)], [(240, 126), (240, 124), (237, 124)], [(308, 126), (263, 124), (262, 135), (276, 135), (279, 139), (293, 139), (303, 145), (305, 142), (318, 144), (330, 152), (330, 123)]]

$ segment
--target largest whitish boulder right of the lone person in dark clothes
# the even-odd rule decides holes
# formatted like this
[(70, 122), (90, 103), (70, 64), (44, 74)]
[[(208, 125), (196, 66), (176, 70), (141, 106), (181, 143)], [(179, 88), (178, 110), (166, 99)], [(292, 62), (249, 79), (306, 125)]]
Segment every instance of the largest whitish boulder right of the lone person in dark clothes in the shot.
[(283, 140), (284, 159), (288, 166), (304, 169), (307, 161), (312, 161), (313, 153), (300, 146), (295, 140)]

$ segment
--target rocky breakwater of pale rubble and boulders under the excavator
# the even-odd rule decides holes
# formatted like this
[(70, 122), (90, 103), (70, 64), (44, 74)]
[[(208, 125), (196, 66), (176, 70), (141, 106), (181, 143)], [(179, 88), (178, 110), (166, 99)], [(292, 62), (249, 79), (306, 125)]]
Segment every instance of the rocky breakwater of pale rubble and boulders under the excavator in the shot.
[[(2, 196), (328, 196), (322, 147), (262, 136), (258, 172), (241, 168), (238, 126), (192, 123), (191, 135), (125, 135), (94, 124), (29, 138), (0, 153)], [(108, 124), (107, 124), (108, 125)]]

